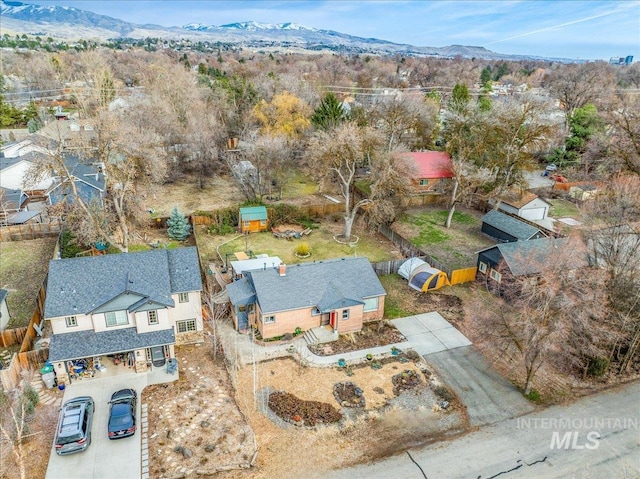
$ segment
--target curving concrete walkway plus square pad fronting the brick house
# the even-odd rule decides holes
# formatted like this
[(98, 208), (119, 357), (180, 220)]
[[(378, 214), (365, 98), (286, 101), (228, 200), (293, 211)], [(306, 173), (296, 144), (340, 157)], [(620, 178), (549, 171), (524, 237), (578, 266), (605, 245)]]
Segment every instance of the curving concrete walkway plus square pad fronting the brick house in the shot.
[(243, 365), (295, 356), (310, 366), (335, 366), (339, 359), (344, 359), (347, 363), (356, 363), (364, 360), (368, 354), (374, 358), (390, 356), (393, 347), (401, 350), (413, 349), (424, 356), (471, 344), (471, 341), (438, 313), (418, 314), (393, 319), (390, 322), (407, 338), (407, 341), (331, 356), (313, 354), (302, 336), (287, 343), (263, 346), (255, 344), (250, 335), (238, 334), (226, 322), (219, 323), (218, 334), (225, 351), (233, 351), (232, 355), (227, 354), (227, 357), (237, 358)]

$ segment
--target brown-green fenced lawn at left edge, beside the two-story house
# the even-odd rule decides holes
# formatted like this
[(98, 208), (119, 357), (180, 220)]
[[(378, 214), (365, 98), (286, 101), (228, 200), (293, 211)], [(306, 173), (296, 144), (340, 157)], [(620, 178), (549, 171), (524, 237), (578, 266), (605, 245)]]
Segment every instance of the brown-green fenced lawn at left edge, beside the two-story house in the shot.
[(29, 324), (55, 244), (55, 238), (0, 243), (0, 288), (9, 291), (7, 328)]

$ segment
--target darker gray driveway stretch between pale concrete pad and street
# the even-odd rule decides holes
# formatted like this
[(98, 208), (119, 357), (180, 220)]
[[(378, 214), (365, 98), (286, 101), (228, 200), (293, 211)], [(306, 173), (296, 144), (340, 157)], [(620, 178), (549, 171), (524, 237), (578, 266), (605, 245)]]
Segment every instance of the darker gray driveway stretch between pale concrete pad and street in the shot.
[(467, 406), (472, 426), (493, 424), (535, 409), (513, 384), (491, 367), (475, 346), (430, 354), (425, 360)]

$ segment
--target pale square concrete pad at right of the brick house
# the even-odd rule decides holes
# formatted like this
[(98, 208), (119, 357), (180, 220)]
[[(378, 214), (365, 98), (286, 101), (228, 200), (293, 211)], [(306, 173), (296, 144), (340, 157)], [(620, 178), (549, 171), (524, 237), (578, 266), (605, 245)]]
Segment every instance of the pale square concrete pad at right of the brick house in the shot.
[(422, 356), (471, 344), (464, 334), (436, 312), (394, 319), (391, 323), (407, 338), (408, 347)]

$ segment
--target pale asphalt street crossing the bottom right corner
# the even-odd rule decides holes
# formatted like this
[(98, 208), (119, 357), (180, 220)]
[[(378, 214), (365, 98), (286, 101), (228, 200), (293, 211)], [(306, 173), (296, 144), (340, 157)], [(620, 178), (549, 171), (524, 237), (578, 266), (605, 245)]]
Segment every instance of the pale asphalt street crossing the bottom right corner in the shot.
[(323, 477), (635, 479), (640, 476), (639, 397), (640, 383), (628, 384)]

